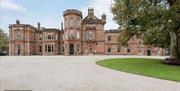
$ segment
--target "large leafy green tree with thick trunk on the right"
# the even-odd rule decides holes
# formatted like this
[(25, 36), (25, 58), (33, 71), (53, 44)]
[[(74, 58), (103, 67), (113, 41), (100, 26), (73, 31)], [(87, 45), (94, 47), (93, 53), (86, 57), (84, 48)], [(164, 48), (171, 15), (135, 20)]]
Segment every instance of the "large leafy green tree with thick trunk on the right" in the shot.
[(180, 59), (180, 0), (115, 0), (112, 13), (124, 28), (122, 45), (137, 35), (145, 44), (170, 48), (170, 57)]

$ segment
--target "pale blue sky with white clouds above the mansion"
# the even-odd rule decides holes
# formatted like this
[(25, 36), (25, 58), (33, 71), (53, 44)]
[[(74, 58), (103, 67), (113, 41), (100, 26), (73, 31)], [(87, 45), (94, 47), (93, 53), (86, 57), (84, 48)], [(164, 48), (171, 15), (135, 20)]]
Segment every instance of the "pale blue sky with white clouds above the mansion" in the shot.
[(88, 8), (94, 8), (98, 18), (103, 13), (107, 15), (106, 30), (117, 29), (110, 9), (112, 4), (113, 0), (0, 0), (0, 28), (8, 33), (9, 24), (18, 19), (35, 27), (40, 22), (42, 27), (60, 29), (66, 9), (80, 10), (84, 18)]

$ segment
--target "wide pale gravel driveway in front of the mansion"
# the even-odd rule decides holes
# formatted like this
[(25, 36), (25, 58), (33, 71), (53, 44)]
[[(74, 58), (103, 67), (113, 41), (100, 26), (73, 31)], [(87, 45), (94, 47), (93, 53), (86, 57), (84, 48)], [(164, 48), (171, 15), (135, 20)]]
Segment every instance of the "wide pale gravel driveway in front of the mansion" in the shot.
[(180, 91), (179, 82), (95, 64), (97, 60), (116, 57), (135, 56), (0, 57), (0, 91)]

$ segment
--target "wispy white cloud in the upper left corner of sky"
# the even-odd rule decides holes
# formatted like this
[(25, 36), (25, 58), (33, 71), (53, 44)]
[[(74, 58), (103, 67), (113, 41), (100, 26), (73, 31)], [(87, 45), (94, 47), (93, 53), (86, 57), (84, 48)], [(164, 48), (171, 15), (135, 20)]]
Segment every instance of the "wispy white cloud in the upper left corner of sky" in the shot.
[(27, 9), (24, 8), (23, 6), (12, 2), (10, 0), (0, 0), (0, 8), (5, 9), (5, 10), (12, 10), (12, 11), (17, 11), (17, 12), (25, 12)]

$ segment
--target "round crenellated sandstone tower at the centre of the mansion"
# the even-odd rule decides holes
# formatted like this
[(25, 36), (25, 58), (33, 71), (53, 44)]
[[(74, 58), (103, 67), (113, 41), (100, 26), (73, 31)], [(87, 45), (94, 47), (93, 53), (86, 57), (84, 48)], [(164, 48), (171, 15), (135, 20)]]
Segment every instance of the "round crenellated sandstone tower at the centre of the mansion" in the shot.
[(64, 54), (81, 54), (82, 12), (76, 9), (64, 11)]

